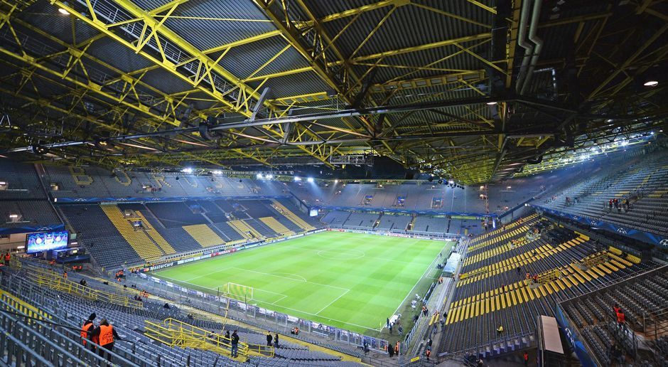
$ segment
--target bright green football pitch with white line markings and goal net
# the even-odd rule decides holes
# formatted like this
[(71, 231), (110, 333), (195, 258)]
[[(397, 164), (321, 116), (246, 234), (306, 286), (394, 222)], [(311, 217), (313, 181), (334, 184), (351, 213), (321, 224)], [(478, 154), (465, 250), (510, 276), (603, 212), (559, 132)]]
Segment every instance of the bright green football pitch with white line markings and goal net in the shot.
[[(424, 294), (451, 242), (327, 231), (153, 273), (272, 311), (364, 333)], [(439, 259), (439, 252), (443, 257)], [(415, 289), (414, 289), (415, 287)], [(412, 293), (411, 293), (412, 291)]]

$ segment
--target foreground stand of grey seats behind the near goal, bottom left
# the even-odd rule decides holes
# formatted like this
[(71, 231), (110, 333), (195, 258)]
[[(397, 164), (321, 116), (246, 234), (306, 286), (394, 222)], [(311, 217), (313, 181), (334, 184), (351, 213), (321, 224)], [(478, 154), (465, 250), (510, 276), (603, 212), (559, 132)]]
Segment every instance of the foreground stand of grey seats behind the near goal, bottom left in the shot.
[[(279, 347), (266, 347), (263, 331), (227, 325), (212, 314), (203, 316), (200, 312), (193, 317), (192, 312), (174, 305), (166, 309), (158, 300), (144, 298), (138, 302), (131, 297), (139, 292), (119, 292), (91, 278), (87, 278), (90, 287), (82, 286), (77, 283), (81, 276), (63, 280), (57, 273), (30, 262), (21, 261), (14, 270), (5, 267), (2, 275), (0, 327), (3, 331), (16, 327), (24, 331), (0, 342), (2, 349), (9, 351), (0, 356), (4, 363), (53, 365), (60, 358), (68, 358), (78, 365), (105, 365), (103, 356), (81, 342), (81, 323), (95, 313), (95, 324), (107, 319), (122, 337), (110, 353), (111, 360), (122, 366), (358, 365), (342, 361), (335, 353), (312, 351), (287, 338)], [(109, 292), (112, 289), (114, 292)], [(173, 329), (175, 326), (178, 331)], [(230, 354), (230, 339), (222, 334), (217, 339), (210, 338), (212, 333), (225, 329), (239, 330), (237, 358)], [(173, 341), (180, 341), (179, 346), (173, 346)]]

